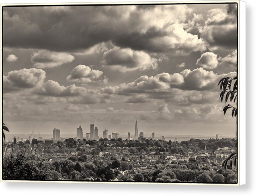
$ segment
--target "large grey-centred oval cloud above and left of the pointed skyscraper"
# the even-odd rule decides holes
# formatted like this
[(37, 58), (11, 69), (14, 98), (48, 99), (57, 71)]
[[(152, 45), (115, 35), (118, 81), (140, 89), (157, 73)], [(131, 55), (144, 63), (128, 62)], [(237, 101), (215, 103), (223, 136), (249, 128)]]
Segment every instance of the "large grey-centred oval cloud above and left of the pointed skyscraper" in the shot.
[(156, 69), (158, 63), (156, 58), (151, 58), (145, 52), (115, 46), (111, 50), (104, 52), (103, 65), (113, 70), (126, 72), (138, 69)]

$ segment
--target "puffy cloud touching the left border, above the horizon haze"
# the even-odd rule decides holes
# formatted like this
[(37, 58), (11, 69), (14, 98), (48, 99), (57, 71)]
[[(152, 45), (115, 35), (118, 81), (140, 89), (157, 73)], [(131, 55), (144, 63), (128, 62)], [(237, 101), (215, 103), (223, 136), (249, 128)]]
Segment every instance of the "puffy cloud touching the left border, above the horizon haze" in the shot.
[(45, 80), (45, 71), (36, 68), (14, 70), (3, 77), (4, 91), (34, 88)]

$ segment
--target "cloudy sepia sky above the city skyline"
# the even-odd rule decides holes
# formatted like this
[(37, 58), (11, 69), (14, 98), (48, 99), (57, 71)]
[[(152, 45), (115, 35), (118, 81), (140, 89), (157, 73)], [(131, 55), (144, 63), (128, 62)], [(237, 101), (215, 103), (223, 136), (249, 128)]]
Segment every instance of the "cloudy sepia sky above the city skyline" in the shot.
[(236, 16), (236, 4), (4, 7), (4, 123), (235, 136), (217, 84), (236, 76)]

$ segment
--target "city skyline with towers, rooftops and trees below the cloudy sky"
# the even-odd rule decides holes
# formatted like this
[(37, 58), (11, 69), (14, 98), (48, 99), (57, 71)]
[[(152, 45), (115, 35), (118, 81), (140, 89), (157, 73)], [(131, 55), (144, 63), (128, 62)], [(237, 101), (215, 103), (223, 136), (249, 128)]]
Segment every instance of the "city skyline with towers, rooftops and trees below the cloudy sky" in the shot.
[(137, 121), (124, 140), (107, 129), (100, 138), (94, 124), (86, 135), (79, 126), (76, 138), (61, 138), (56, 128), (51, 139), (32, 134), (4, 141), (4, 180), (237, 183), (236, 168), (222, 168), (237, 152), (236, 138), (156, 140), (154, 132), (138, 134)]

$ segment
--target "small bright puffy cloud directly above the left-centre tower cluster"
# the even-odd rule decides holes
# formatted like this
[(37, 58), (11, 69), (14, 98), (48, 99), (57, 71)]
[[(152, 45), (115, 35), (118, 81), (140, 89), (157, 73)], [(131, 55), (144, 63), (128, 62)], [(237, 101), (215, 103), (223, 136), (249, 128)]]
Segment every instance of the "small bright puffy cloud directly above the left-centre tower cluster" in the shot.
[(66, 78), (70, 82), (78, 83), (91, 83), (91, 82), (102, 82), (107, 83), (108, 79), (103, 76), (103, 72), (100, 70), (93, 70), (86, 65), (78, 65)]

